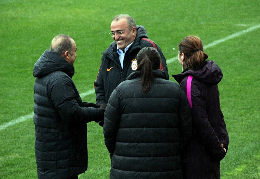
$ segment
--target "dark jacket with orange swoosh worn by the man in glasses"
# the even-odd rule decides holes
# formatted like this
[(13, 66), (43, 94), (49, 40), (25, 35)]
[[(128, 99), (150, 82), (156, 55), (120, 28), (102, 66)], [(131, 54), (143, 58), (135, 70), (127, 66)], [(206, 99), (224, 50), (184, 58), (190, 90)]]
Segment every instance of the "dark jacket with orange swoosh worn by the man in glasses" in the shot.
[(96, 103), (107, 103), (108, 99), (119, 83), (125, 81), (127, 76), (134, 72), (132, 69), (133, 61), (136, 61), (136, 55), (144, 47), (155, 47), (161, 56), (161, 70), (166, 74), (166, 79), (169, 79), (168, 68), (164, 54), (161, 52), (160, 47), (147, 39), (146, 30), (143, 26), (137, 26), (137, 35), (133, 45), (127, 50), (124, 58), (123, 69), (120, 65), (119, 54), (116, 52), (115, 41), (109, 45), (107, 50), (103, 53), (99, 73), (96, 81), (94, 82), (96, 92)]

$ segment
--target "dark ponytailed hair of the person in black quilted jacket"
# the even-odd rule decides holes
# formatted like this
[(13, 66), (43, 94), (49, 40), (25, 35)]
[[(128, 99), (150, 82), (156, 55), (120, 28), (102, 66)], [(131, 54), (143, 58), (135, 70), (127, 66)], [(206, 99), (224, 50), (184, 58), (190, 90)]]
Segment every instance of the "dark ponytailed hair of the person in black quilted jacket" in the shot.
[(137, 69), (142, 72), (142, 93), (146, 94), (153, 83), (153, 70), (160, 68), (161, 57), (153, 47), (144, 47), (136, 56)]

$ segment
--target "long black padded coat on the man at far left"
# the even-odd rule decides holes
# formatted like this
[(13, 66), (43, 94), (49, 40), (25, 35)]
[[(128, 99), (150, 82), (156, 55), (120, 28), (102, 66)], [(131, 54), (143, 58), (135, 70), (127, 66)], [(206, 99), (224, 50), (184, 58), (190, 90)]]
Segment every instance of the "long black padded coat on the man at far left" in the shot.
[(88, 167), (86, 123), (102, 112), (82, 103), (74, 67), (46, 50), (34, 65), (35, 156), (38, 178), (68, 178)]

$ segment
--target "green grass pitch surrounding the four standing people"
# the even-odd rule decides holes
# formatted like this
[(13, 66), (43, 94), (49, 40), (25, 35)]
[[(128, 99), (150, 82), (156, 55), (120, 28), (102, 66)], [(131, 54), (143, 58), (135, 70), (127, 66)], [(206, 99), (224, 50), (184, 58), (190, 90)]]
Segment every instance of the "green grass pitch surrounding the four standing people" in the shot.
[[(181, 72), (174, 59), (177, 44), (187, 35), (202, 39), (209, 59), (223, 71), (220, 102), (230, 145), (220, 164), (221, 176), (260, 178), (259, 5), (259, 0), (1, 0), (0, 178), (37, 178), (32, 71), (53, 37), (63, 33), (74, 38), (78, 50), (73, 81), (83, 101), (95, 102), (91, 90), (101, 53), (112, 42), (112, 18), (121, 13), (144, 25), (148, 37), (160, 46), (171, 81), (172, 74)], [(87, 126), (88, 170), (79, 178), (109, 178), (103, 129), (95, 122)]]

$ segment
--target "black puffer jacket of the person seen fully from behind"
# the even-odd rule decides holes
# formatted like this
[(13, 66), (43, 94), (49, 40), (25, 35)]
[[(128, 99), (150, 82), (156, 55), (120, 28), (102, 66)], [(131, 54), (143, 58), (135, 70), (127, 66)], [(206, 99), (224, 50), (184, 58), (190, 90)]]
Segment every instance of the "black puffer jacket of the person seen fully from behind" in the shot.
[(191, 135), (191, 112), (177, 83), (154, 70), (150, 91), (141, 92), (141, 72), (129, 75), (109, 98), (105, 145), (110, 178), (182, 178), (181, 148)]

